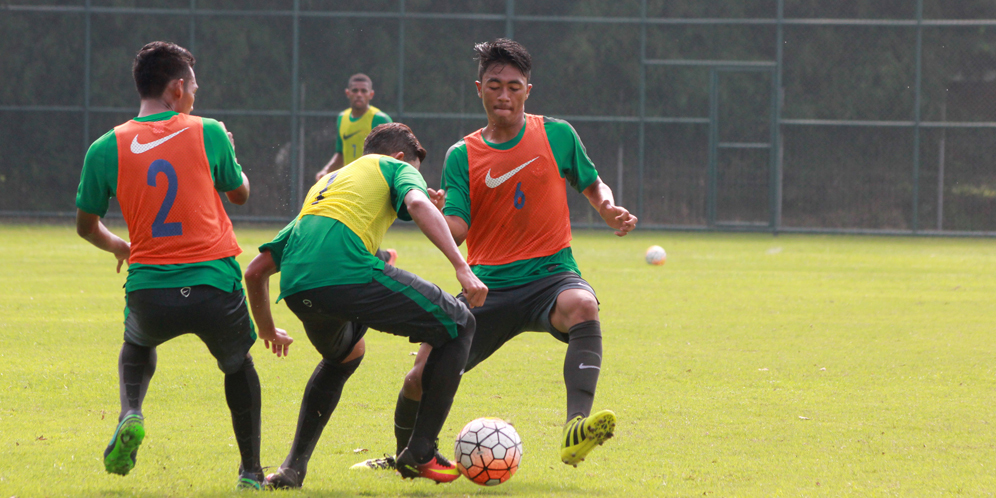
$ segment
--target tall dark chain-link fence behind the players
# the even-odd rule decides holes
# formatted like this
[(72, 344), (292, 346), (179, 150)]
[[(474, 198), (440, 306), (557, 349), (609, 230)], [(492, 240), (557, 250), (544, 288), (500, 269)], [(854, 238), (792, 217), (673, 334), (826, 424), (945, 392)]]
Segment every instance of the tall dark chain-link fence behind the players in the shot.
[(356, 72), (438, 185), (485, 123), (471, 47), (499, 36), (533, 54), (527, 111), (570, 121), (642, 226), (996, 232), (991, 0), (0, 0), (0, 215), (72, 215), (156, 39), (191, 49), (195, 113), (236, 136), (233, 218), (297, 212)]

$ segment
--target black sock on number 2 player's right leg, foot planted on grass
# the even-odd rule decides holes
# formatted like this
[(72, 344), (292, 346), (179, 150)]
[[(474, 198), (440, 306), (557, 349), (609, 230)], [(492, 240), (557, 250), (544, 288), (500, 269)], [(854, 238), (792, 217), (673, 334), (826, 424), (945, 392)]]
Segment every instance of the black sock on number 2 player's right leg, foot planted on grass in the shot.
[(242, 367), (225, 375), (225, 399), (232, 412), (232, 427), (235, 429), (235, 442), (239, 445), (244, 472), (262, 472), (259, 464), (259, 374), (246, 355)]

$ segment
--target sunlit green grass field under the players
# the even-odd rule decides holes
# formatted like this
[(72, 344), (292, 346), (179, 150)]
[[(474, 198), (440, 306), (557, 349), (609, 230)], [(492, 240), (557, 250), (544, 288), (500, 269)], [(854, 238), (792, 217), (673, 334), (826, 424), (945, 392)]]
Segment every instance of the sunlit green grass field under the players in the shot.
[[(243, 268), (276, 231), (237, 230)], [(667, 249), (663, 267), (643, 262), (651, 244)], [(385, 247), (456, 289), (418, 232), (395, 229)], [(613, 440), (576, 469), (560, 463), (564, 346), (526, 334), (464, 378), (440, 441), (449, 453), (480, 416), (512, 422), (525, 456), (511, 481), (350, 472), (393, 449), (416, 349), (371, 332), (304, 490), (285, 495), (996, 494), (993, 240), (599, 231), (576, 233), (574, 251), (602, 303), (595, 408), (616, 411)], [(106, 474), (124, 275), (69, 226), (0, 225), (0, 254), (0, 498), (233, 494), (238, 453), (206, 348), (189, 337), (159, 348), (138, 465)], [(253, 349), (263, 464), (276, 466), (318, 355), (274, 309), (297, 339), (285, 359)]]

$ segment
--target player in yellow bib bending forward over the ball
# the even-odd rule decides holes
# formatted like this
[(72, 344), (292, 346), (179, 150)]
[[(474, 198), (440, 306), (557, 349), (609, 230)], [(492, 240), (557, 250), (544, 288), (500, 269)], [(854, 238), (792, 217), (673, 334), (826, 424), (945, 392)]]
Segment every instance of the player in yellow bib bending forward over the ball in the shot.
[[(460, 384), (474, 316), (436, 285), (385, 265), (373, 253), (395, 219), (412, 220), (453, 265), (467, 305), (480, 306), (488, 289), (464, 261), (428, 197), (418, 172), (425, 149), (411, 130), (401, 123), (379, 126), (367, 137), (366, 150), (368, 154), (311, 187), (301, 214), (260, 247), (246, 271), (261, 330), (282, 335), (270, 315), (268, 284), (279, 269), (278, 301), (285, 300), (322, 355), (305, 387), (290, 454), (266, 478), (276, 488), (303, 484), (343, 385), (363, 359), (367, 327), (432, 345), (422, 371), (425, 403), (399, 452), (398, 471), (405, 478), (436, 482), (460, 476), (437, 451), (436, 438)], [(276, 345), (273, 351), (287, 353)]]

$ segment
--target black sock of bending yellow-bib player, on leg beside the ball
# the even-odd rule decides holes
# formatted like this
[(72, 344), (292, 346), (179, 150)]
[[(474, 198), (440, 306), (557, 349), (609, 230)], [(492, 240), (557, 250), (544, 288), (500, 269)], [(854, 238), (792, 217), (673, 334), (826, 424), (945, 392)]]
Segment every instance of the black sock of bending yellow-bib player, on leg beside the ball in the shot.
[(474, 337), (476, 322), (469, 315), (467, 325), (457, 327), (457, 337), (440, 347), (433, 347), (422, 369), (422, 401), (408, 451), (418, 463), (425, 463), (434, 456), (436, 438), (453, 406), (453, 396), (460, 387), (463, 367), (467, 365), (470, 341)]

